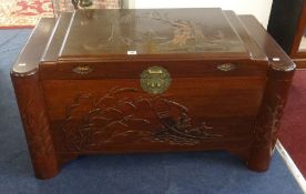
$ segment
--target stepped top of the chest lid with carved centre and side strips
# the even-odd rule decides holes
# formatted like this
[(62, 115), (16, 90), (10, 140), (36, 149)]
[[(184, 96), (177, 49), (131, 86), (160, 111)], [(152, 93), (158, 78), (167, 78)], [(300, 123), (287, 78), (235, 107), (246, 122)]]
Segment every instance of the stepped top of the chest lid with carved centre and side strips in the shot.
[(265, 60), (233, 12), (217, 8), (63, 13), (42, 61)]

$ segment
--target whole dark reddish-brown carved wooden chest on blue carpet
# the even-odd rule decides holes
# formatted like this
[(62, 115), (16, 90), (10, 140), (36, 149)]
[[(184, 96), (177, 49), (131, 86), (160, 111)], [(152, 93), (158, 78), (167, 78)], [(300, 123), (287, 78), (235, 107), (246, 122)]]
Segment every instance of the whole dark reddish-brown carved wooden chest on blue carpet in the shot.
[(48, 178), (79, 155), (126, 152), (226, 150), (265, 171), (294, 70), (252, 16), (79, 10), (42, 19), (11, 78)]

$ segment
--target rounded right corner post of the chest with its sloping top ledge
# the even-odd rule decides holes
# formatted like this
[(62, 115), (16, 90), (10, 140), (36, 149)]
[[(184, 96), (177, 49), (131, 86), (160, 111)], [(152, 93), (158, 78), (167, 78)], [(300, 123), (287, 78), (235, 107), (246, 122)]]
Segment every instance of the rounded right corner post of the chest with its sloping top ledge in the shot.
[[(245, 16), (241, 18), (254, 34), (254, 39), (267, 53), (271, 63), (264, 99), (254, 129), (255, 139), (251, 157), (247, 161), (251, 170), (266, 171), (276, 143), (296, 65), (254, 17)], [(279, 58), (279, 60), (273, 60), (275, 58)]]

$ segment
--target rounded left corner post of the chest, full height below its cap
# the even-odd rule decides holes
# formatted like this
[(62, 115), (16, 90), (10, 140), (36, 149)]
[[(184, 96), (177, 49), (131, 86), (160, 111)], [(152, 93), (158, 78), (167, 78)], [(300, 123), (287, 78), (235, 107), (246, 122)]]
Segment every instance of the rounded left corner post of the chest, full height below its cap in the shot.
[(59, 165), (38, 74), (12, 80), (35, 176), (53, 177)]

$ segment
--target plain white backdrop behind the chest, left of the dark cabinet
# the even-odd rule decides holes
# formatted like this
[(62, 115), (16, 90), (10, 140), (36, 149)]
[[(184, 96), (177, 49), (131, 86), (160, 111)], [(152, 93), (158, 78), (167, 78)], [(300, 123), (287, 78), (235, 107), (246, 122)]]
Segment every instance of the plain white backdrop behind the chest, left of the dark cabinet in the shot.
[(273, 0), (130, 0), (130, 8), (222, 8), (253, 14), (267, 27)]

